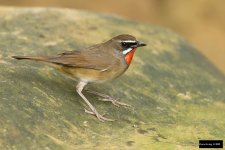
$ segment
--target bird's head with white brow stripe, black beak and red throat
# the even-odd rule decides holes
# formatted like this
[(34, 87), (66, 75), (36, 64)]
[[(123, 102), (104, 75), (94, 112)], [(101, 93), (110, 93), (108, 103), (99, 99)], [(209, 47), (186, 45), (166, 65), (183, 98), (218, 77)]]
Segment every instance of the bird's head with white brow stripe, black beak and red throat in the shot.
[(134, 36), (129, 34), (118, 35), (110, 41), (113, 44), (114, 49), (123, 54), (128, 65), (131, 63), (136, 49), (141, 46), (146, 46), (145, 43), (138, 41)]

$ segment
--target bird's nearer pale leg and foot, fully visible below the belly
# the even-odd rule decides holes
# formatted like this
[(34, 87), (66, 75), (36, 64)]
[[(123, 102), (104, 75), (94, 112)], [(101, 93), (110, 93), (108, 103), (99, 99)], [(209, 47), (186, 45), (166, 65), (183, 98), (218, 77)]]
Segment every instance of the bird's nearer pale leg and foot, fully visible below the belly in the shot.
[(80, 81), (78, 84), (77, 84), (77, 87), (76, 87), (76, 91), (77, 93), (83, 98), (83, 100), (86, 102), (86, 104), (89, 106), (89, 108), (91, 109), (91, 111), (88, 111), (85, 109), (85, 112), (86, 113), (89, 113), (89, 114), (92, 114), (92, 115), (95, 115), (100, 121), (114, 121), (112, 119), (108, 119), (108, 118), (105, 118), (103, 117), (102, 115), (100, 115), (97, 110), (95, 109), (95, 107), (87, 100), (87, 98), (83, 95), (82, 93), (82, 90), (83, 88), (85, 87), (85, 85), (87, 85), (87, 82), (83, 82), (83, 81)]

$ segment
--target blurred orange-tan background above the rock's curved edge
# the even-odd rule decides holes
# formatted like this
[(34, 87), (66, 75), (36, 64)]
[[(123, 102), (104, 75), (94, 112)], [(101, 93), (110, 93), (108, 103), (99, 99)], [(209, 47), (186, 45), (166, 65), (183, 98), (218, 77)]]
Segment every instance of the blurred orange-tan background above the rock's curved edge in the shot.
[(0, 0), (0, 5), (84, 9), (165, 26), (225, 73), (225, 0)]

